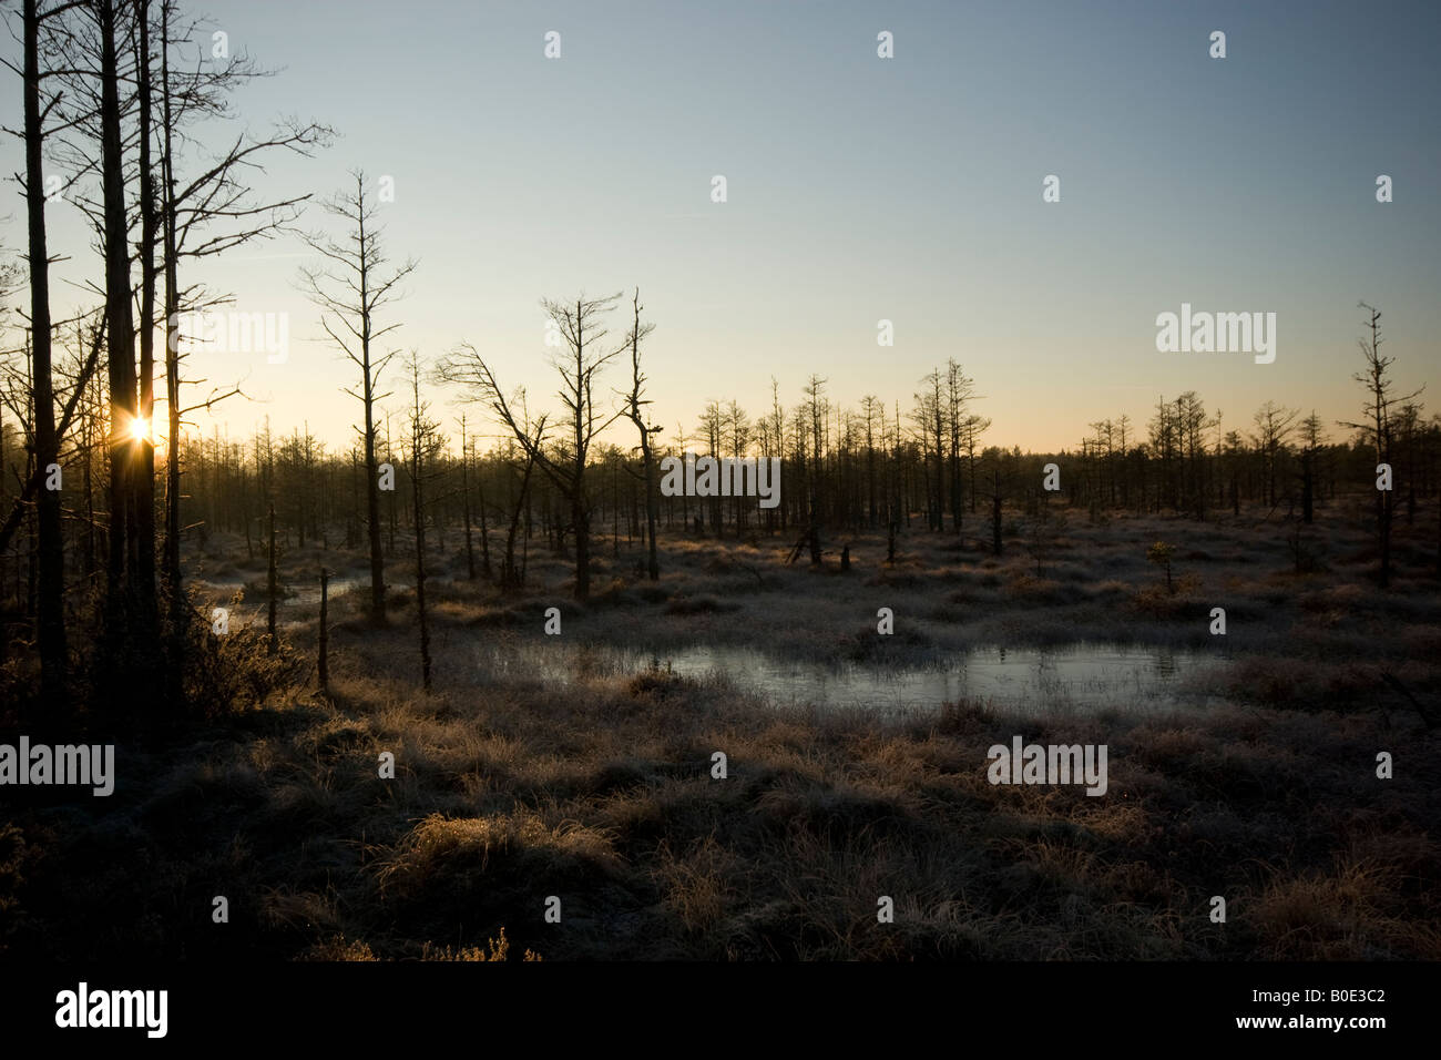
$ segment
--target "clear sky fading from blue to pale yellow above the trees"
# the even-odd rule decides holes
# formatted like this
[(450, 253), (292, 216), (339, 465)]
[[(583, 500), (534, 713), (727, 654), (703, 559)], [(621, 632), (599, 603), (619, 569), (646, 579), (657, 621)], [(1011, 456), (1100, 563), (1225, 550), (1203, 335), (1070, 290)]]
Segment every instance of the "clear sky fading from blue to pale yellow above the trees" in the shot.
[[(434, 359), (458, 342), (509, 389), (556, 407), (542, 297), (638, 286), (646, 371), (667, 434), (706, 401), (752, 414), (801, 401), (912, 404), (958, 361), (989, 443), (1075, 447), (1087, 424), (1144, 423), (1195, 389), (1225, 428), (1267, 399), (1356, 418), (1365, 300), (1383, 312), (1398, 387), (1441, 366), (1441, 74), (1435, 3), (488, 3), (202, 0), (232, 52), (278, 68), (233, 105), (336, 127), (313, 159), (275, 157), (267, 195), (343, 187), (363, 167), (392, 260), (415, 258), (379, 324)], [(545, 56), (546, 33), (561, 58)], [(1223, 32), (1226, 56), (1212, 58)], [(893, 58), (878, 56), (878, 33)], [(14, 52), (7, 42), (6, 53)], [(13, 81), (13, 75), (12, 81)], [(0, 118), (19, 123), (19, 85)], [(223, 130), (216, 130), (216, 143)], [(0, 172), (20, 167), (7, 140)], [(712, 177), (726, 200), (712, 202)], [(1043, 180), (1059, 177), (1059, 202)], [(1393, 200), (1376, 200), (1376, 179)], [(99, 262), (49, 211), (72, 284)], [(24, 208), (0, 190), (0, 244)], [(304, 222), (334, 235), (321, 211)], [(285, 313), (290, 352), (196, 355), (267, 415), (347, 446), (354, 369), (298, 286), (294, 239), (239, 248), (190, 278), (246, 313)], [(76, 297), (73, 286), (56, 301)], [(1275, 359), (1157, 350), (1157, 314), (1275, 313)], [(889, 320), (893, 346), (878, 345)], [(628, 326), (625, 312), (611, 337)], [(393, 369), (392, 369), (393, 371)], [(621, 388), (624, 368), (607, 379)], [(399, 376), (392, 376), (399, 382)], [(447, 421), (461, 397), (434, 391)], [(1431, 397), (1422, 395), (1424, 398)], [(396, 389), (385, 404), (403, 408)], [(468, 410), (474, 423), (481, 411)], [(196, 417), (209, 433), (212, 421)], [(497, 428), (484, 421), (483, 433)], [(1333, 428), (1333, 434), (1342, 431)]]

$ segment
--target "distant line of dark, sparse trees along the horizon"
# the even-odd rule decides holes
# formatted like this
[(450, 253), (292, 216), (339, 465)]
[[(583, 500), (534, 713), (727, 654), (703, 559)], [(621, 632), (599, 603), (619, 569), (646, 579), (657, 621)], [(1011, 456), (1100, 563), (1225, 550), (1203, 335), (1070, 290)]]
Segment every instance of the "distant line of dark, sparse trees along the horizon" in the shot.
[[(927, 381), (942, 381), (934, 372)], [(944, 385), (944, 384), (942, 384)], [(777, 388), (778, 391), (778, 388)], [(1035, 512), (1040, 505), (1206, 519), (1239, 513), (1242, 506), (1280, 511), (1308, 519), (1343, 493), (1370, 490), (1375, 453), (1360, 437), (1330, 441), (1313, 412), (1267, 402), (1249, 430), (1223, 430), (1202, 401), (1187, 392), (1157, 402), (1153, 418), (1137, 433), (1127, 415), (1091, 424), (1074, 450), (1023, 453), (976, 444), (977, 420), (957, 418), (942, 405), (940, 431), (934, 404), (918, 399), (909, 417), (866, 397), (846, 408), (826, 397), (824, 381), (811, 378), (804, 399), (752, 420), (735, 401), (709, 402), (695, 425), (677, 424), (670, 444), (656, 446), (656, 459), (682, 453), (781, 459), (780, 505), (761, 509), (755, 498), (656, 495), (660, 528), (667, 532), (748, 538), (801, 532), (814, 522), (826, 534), (905, 529), (986, 536), (997, 493), (1009, 506)], [(942, 389), (944, 395), (944, 389)], [(934, 397), (934, 389), (922, 397)], [(104, 404), (91, 401), (78, 417), (78, 438), (104, 434)], [(463, 427), (464, 423), (464, 427)], [(960, 428), (953, 433), (953, 425)], [(922, 433), (922, 424), (925, 431)], [(463, 555), (467, 574), (501, 584), (525, 581), (525, 565), (536, 548), (571, 554), (574, 547), (568, 498), (546, 476), (526, 470), (526, 456), (512, 440), (481, 438), (474, 424), (457, 417), (448, 437), (428, 460), (422, 522), (441, 554)], [(406, 473), (409, 418), (382, 414), (376, 461), (391, 467), (391, 489), (380, 489), (380, 539), (388, 560), (408, 555), (415, 534), (415, 480)], [(1417, 404), (1396, 417), (1393, 469), (1398, 503), (1415, 518), (1421, 499), (1441, 489), (1441, 421), (1421, 418)], [(935, 440), (941, 444), (937, 447)], [(483, 447), (484, 446), (484, 447)], [(102, 588), (105, 480), (91, 447), (76, 444), (68, 466), (79, 469), (61, 490), (69, 590), (91, 583)], [(23, 433), (0, 423), (0, 461), (6, 480), (23, 480), (30, 451)], [(166, 463), (157, 470), (163, 480)], [(285, 549), (360, 549), (366, 544), (369, 476), (360, 444), (334, 451), (308, 428), (275, 433), (269, 423), (235, 441), (218, 430), (208, 437), (183, 436), (180, 467), (184, 492), (180, 516), (186, 535), (200, 547), (212, 534), (244, 539), (246, 558), (264, 557), (268, 512)], [(1059, 469), (1059, 490), (1043, 489), (1046, 466)], [(634, 449), (604, 444), (594, 450), (586, 508), (597, 545), (633, 555), (646, 544), (646, 476)], [(0, 502), (14, 489), (0, 486)], [(16, 536), (0, 567), (0, 596), (24, 614), (35, 613), (37, 591), (36, 535)]]

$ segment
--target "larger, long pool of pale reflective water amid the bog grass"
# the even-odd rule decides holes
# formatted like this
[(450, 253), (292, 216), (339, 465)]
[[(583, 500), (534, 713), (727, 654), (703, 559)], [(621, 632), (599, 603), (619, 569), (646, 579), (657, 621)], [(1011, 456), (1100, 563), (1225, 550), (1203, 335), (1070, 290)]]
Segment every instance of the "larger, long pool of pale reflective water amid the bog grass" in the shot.
[(1146, 711), (1202, 705), (1226, 659), (1219, 653), (1134, 645), (1078, 643), (1048, 649), (973, 648), (924, 665), (823, 663), (782, 659), (758, 648), (687, 646), (647, 653), (607, 646), (509, 643), (480, 648), (497, 676), (566, 684), (588, 673), (661, 669), (729, 682), (777, 705), (863, 707), (925, 712), (945, 702), (990, 702), (1009, 711)]

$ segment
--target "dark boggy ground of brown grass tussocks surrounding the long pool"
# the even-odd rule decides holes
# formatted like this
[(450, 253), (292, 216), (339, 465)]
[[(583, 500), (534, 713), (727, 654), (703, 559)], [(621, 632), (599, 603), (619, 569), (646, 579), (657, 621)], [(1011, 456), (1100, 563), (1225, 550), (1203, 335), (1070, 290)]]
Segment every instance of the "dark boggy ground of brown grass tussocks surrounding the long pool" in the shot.
[[(435, 555), (455, 577), (429, 588), (428, 695), (412, 590), (392, 588), (386, 629), (363, 586), (330, 601), (329, 694), (316, 609), (282, 609), (272, 656), (242, 590), (233, 704), (163, 740), (118, 737), (108, 799), (7, 793), (0, 952), (477, 959), (497, 940), (510, 959), (1437, 959), (1431, 521), (1398, 528), (1380, 593), (1365, 503), (1316, 529), (1300, 570), (1264, 511), (1205, 526), (1052, 512), (1040, 549), (1026, 547), (1038, 521), (1009, 513), (1001, 557), (915, 534), (893, 564), (885, 535), (857, 535), (844, 574), (834, 555), (787, 565), (777, 541), (669, 535), (659, 583), (634, 574), (638, 544), (607, 549), (584, 606), (562, 555), (533, 555), (527, 588), (506, 594), (468, 583), (463, 554)], [(1147, 562), (1156, 541), (1177, 545), (1170, 590)], [(222, 564), (264, 578), (233, 538), (187, 561), (197, 578)], [(284, 581), (316, 565), (297, 549)], [(552, 606), (559, 637), (542, 633)], [(875, 632), (882, 606), (892, 637)], [(873, 663), (986, 642), (1205, 648), (1221, 640), (1213, 606), (1232, 663), (1205, 707), (1012, 718), (951, 702), (888, 718), (780, 708), (663, 663), (702, 640)], [(661, 665), (572, 665), (562, 685), (477, 650), (582, 642)], [(238, 675), (271, 688), (246, 702)], [(1108, 793), (991, 786), (986, 750), (1016, 734), (1108, 744)], [(395, 779), (378, 776), (383, 751)], [(212, 922), (215, 896), (229, 923)], [(878, 923), (882, 896), (895, 923)]]

